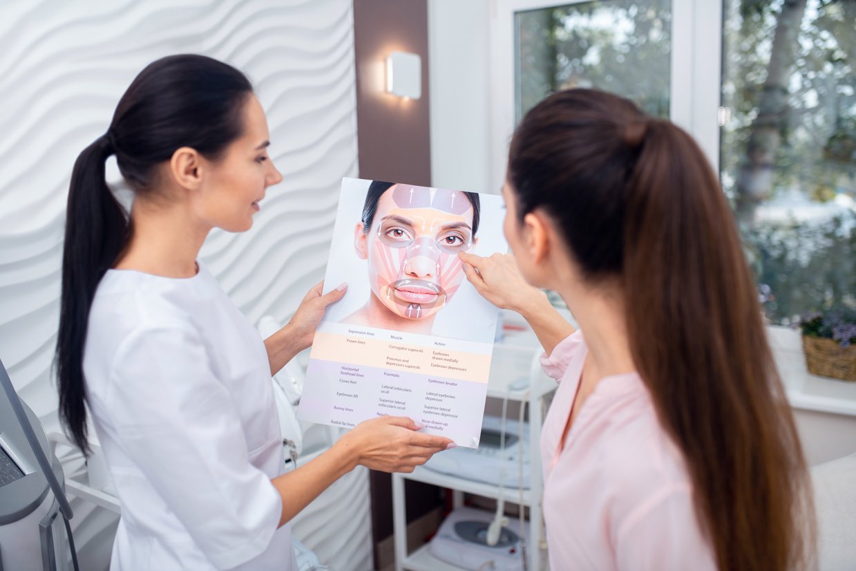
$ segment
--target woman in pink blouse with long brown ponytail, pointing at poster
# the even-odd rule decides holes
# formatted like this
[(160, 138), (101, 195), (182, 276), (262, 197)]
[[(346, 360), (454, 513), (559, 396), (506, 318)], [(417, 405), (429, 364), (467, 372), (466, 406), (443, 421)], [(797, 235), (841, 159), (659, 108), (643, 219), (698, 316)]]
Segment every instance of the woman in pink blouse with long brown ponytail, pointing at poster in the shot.
[(560, 380), (541, 440), (550, 567), (810, 568), (800, 442), (693, 139), (608, 93), (558, 92), (515, 131), (502, 193), (514, 257), (461, 258)]

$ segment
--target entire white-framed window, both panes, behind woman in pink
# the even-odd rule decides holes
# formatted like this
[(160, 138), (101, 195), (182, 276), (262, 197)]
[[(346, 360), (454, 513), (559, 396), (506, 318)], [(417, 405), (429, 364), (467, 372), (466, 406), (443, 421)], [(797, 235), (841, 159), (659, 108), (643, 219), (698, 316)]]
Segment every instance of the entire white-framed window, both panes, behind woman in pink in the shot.
[(856, 307), (856, 0), (500, 5), (517, 121), (571, 86), (669, 116), (720, 171), (770, 323)]

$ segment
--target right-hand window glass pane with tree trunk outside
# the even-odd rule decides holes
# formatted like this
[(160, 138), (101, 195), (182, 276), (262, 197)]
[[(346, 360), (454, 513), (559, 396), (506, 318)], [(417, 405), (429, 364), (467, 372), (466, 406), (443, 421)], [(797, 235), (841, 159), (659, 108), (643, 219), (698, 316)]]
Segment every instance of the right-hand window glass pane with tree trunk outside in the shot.
[(722, 187), (767, 316), (856, 306), (856, 2), (722, 15)]

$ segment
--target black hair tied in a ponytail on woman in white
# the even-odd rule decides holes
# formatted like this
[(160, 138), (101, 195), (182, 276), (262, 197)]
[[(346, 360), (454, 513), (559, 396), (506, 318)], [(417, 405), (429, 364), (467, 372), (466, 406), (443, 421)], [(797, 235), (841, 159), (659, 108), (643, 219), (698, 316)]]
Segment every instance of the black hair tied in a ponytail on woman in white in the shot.
[(134, 193), (150, 192), (154, 171), (189, 146), (217, 158), (241, 136), (241, 109), (253, 87), (237, 69), (210, 57), (163, 57), (146, 66), (116, 107), (107, 133), (87, 146), (71, 175), (62, 249), (62, 294), (56, 340), (59, 412), (74, 443), (88, 454), (83, 355), (92, 300), (128, 241), (128, 213), (104, 179), (116, 163)]

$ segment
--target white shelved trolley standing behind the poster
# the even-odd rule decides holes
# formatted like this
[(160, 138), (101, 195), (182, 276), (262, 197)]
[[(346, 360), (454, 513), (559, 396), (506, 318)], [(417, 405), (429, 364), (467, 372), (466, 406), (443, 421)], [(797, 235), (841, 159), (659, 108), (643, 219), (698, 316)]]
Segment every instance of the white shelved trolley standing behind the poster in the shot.
[[(526, 506), (529, 532), (526, 534), (526, 559), (530, 571), (540, 571), (546, 559), (546, 547), (541, 526), (542, 478), (539, 457), (541, 425), (545, 407), (543, 399), (556, 390), (556, 381), (548, 378), (541, 370), (538, 356), (542, 349), (531, 330), (508, 333), (502, 342), (496, 342), (490, 365), (489, 399), (518, 401), (528, 407), (529, 434), (520, 435), (529, 439), (529, 481), (531, 488), (522, 493), (522, 504)], [(509, 415), (510, 417), (510, 415)], [(443, 454), (443, 453), (441, 453)], [(417, 467), (413, 473), (396, 473), (392, 476), (393, 532), (395, 534), (395, 569), (403, 571), (460, 571), (431, 555), (428, 545), (413, 553), (407, 553), (407, 517), (405, 514), (404, 484), (411, 479), (449, 488), (454, 493), (455, 508), (461, 507), (463, 494), (499, 498), (506, 503), (521, 503), (520, 490), (516, 486), (504, 488), (484, 484), (472, 479), (433, 472), (426, 467)], [(542, 549), (544, 548), (544, 549)]]

